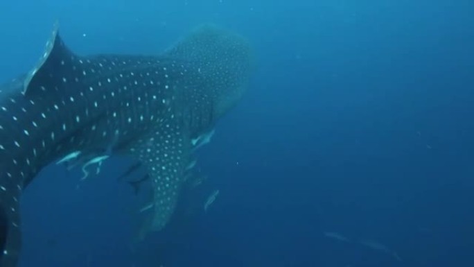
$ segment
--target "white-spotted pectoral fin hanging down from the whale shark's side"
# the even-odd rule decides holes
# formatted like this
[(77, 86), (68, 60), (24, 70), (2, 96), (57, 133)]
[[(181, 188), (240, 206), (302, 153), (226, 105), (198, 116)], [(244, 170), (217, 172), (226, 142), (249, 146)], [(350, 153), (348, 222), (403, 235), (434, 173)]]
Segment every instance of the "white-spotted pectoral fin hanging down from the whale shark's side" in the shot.
[(148, 230), (159, 231), (168, 223), (175, 210), (179, 191), (186, 180), (186, 166), (191, 157), (191, 139), (179, 126), (160, 129), (130, 146), (130, 153), (146, 168), (152, 187), (152, 199), (147, 203), (152, 219)]

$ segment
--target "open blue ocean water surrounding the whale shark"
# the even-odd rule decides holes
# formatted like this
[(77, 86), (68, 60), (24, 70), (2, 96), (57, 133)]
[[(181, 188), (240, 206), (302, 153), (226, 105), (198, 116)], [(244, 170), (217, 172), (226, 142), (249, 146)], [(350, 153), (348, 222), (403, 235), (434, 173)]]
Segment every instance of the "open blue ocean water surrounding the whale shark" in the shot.
[(474, 266), (474, 2), (1, 1), (0, 79), (60, 21), (78, 53), (155, 54), (211, 22), (256, 71), (198, 165), (220, 194), (144, 243), (125, 159), (50, 166), (22, 200), (20, 266)]

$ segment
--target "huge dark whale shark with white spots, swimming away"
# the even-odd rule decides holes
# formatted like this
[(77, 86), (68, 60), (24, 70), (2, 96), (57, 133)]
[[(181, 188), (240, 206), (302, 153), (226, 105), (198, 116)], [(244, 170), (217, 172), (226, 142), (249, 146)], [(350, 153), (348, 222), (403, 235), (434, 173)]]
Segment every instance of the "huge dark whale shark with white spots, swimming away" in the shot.
[(190, 164), (191, 140), (236, 104), (251, 61), (243, 37), (213, 26), (158, 56), (76, 55), (55, 26), (37, 66), (0, 87), (0, 266), (19, 258), (21, 192), (61, 158), (89, 158), (89, 166), (109, 153), (135, 157), (153, 191), (143, 232), (161, 230)]

